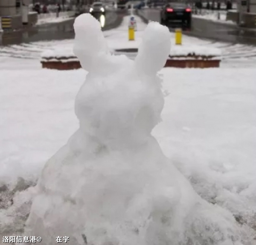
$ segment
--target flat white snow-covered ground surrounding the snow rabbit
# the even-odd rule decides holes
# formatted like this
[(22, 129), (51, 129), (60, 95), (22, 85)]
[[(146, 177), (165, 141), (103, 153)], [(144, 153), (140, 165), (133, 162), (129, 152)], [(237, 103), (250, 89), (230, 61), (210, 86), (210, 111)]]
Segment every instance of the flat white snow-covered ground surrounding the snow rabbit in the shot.
[[(138, 46), (145, 25), (137, 20), (136, 41), (127, 44), (127, 21), (105, 31), (111, 48)], [(256, 238), (256, 48), (192, 37), (183, 43), (220, 48), (223, 62), (221, 68), (160, 72), (170, 94), (153, 135), (197, 193), (229, 210)], [(74, 99), (86, 72), (40, 66), (42, 51), (71, 45), (73, 40), (0, 48), (0, 236), (23, 229), (31, 194), (23, 190), (79, 127)]]

